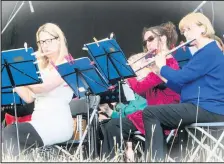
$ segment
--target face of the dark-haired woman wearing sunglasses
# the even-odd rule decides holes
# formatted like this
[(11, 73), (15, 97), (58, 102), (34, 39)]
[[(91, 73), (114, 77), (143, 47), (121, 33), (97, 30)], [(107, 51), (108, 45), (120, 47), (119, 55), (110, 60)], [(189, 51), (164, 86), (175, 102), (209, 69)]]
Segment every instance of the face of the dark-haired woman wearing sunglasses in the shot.
[(156, 36), (151, 31), (147, 31), (144, 35), (144, 41), (143, 46), (146, 47), (147, 51), (153, 51), (155, 49), (158, 49), (159, 47), (159, 36)]

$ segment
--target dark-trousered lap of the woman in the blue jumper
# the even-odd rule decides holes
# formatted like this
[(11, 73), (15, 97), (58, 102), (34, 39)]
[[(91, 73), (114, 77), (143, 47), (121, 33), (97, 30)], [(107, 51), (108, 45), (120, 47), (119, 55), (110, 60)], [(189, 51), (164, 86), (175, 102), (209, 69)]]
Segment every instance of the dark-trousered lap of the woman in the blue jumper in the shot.
[(214, 122), (214, 113), (208, 112), (191, 103), (168, 104), (149, 106), (143, 111), (143, 115), (154, 115), (162, 125), (177, 128), (195, 122)]

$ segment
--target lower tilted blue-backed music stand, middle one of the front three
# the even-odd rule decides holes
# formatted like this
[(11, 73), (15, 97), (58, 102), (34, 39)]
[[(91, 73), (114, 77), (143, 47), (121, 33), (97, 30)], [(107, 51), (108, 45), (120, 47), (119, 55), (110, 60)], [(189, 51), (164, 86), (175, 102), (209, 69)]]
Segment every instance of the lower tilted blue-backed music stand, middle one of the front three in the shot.
[[(101, 75), (97, 68), (92, 65), (88, 57), (83, 57), (75, 60), (71, 60), (68, 63), (61, 64), (57, 66), (57, 71), (61, 77), (66, 81), (66, 83), (72, 88), (76, 97), (86, 97), (87, 108), (90, 109), (89, 95), (98, 95), (100, 93), (108, 91), (110, 86), (108, 81)], [(89, 119), (89, 110), (87, 111), (88, 125), (83, 133), (80, 140), (79, 146), (76, 153), (82, 146), (82, 143), (86, 137), (88, 131), (88, 142), (89, 142), (89, 153), (90, 153), (90, 130), (89, 127), (94, 119), (97, 119), (97, 108), (94, 108)], [(95, 123), (96, 121), (94, 121)], [(95, 128), (97, 125), (93, 125)], [(94, 136), (94, 141), (96, 142), (96, 135)], [(96, 143), (94, 144), (96, 146)], [(94, 148), (95, 149), (95, 148)], [(96, 156), (95, 149), (95, 156)]]

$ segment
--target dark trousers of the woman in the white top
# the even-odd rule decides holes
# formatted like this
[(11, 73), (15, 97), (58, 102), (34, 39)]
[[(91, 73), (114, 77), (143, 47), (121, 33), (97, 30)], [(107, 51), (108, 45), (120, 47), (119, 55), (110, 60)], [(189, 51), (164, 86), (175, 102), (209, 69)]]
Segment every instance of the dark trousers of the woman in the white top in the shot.
[[(20, 150), (44, 146), (44, 143), (30, 123), (18, 123)], [(17, 156), (19, 148), (17, 144), (16, 125), (7, 126), (2, 131), (2, 153)]]

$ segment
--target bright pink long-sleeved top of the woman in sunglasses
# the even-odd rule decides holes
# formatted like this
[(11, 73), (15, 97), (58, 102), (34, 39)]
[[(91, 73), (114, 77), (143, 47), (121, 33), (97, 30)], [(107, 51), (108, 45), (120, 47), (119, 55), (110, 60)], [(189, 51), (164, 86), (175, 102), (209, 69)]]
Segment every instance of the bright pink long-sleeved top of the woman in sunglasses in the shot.
[[(168, 58), (166, 64), (173, 68), (179, 69), (178, 63), (174, 58)], [(164, 90), (157, 90), (157, 93), (153, 91), (153, 87), (162, 83), (163, 81), (153, 72), (149, 73), (142, 81), (137, 81), (136, 78), (129, 78), (127, 81), (130, 87), (137, 94), (145, 94), (148, 105), (160, 105), (160, 104), (177, 104), (179, 103), (180, 96), (170, 88)], [(136, 111), (127, 116), (135, 127), (142, 133), (145, 134), (142, 110)]]

